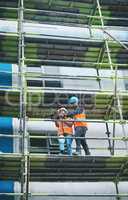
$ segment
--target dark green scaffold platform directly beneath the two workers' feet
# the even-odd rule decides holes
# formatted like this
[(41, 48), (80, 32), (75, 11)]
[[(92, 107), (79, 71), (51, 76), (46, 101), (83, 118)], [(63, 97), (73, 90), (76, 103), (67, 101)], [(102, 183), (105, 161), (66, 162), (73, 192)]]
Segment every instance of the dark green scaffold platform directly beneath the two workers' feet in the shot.
[[(128, 181), (127, 156), (28, 155), (29, 181)], [(21, 180), (21, 155), (0, 156), (0, 179)]]

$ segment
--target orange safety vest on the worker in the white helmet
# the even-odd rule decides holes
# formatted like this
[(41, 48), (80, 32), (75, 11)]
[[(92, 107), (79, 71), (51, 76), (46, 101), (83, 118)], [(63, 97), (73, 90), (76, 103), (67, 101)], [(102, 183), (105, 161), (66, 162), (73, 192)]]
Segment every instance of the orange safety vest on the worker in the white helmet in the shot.
[(68, 126), (65, 122), (59, 121), (57, 128), (59, 135), (64, 135), (64, 133), (71, 135), (73, 133), (72, 126)]

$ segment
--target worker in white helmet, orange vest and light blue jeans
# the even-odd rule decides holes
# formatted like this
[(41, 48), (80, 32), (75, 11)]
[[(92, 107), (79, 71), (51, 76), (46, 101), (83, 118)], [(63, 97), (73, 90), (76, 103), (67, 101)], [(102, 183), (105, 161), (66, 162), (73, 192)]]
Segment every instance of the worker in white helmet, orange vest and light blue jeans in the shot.
[[(58, 119), (55, 122), (55, 125), (58, 129), (59, 136), (59, 148), (60, 154), (64, 154), (64, 143), (66, 142), (67, 154), (72, 155), (72, 134), (73, 134), (73, 122), (70, 118), (67, 118), (68, 111), (65, 108), (60, 108), (58, 111)], [(69, 120), (69, 121), (68, 121)]]

